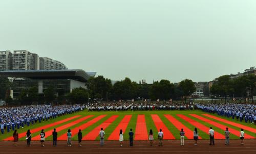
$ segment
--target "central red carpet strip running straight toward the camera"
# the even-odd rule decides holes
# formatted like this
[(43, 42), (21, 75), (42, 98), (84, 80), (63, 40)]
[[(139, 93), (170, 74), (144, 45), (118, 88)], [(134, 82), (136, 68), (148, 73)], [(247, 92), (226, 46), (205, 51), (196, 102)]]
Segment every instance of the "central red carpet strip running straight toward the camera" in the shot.
[(145, 115), (138, 115), (136, 129), (135, 129), (135, 140), (147, 140), (147, 129)]

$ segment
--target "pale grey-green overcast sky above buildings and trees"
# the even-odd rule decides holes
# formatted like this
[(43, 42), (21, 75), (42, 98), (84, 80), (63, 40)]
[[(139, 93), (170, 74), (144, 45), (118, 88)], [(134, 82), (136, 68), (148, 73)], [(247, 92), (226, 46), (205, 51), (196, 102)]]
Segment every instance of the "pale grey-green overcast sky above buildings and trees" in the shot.
[(211, 81), (256, 65), (256, 1), (0, 0), (0, 35), (112, 80)]

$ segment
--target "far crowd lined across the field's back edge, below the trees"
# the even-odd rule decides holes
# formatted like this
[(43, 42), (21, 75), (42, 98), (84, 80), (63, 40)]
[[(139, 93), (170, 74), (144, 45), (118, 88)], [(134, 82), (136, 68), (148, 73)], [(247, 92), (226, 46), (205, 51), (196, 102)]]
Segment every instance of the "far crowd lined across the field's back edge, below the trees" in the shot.
[(138, 102), (94, 102), (87, 105), (88, 111), (121, 111), (121, 110), (193, 110), (190, 103), (173, 101), (138, 101)]

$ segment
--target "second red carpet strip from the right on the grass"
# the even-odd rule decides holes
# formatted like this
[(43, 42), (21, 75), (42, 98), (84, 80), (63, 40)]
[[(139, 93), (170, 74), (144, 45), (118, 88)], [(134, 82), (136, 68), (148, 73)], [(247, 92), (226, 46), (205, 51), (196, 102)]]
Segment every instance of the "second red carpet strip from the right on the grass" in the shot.
[[(212, 124), (212, 125), (218, 127), (219, 129), (222, 129), (223, 132), (226, 130), (226, 127), (228, 127), (228, 126), (226, 126), (226, 125), (222, 125), (222, 124), (220, 124), (220, 123), (218, 123), (218, 122), (215, 122), (215, 121), (206, 119), (206, 118), (201, 117), (201, 116), (196, 115), (196, 114), (189, 114), (189, 115), (191, 115), (191, 116), (193, 116), (193, 117), (195, 117), (195, 118), (198, 118), (198, 119), (200, 119), (200, 120), (202, 120), (202, 121), (204, 121), (204, 122), (207, 122), (207, 123), (209, 123), (209, 124)], [(229, 132), (230, 132), (231, 134), (234, 134), (234, 135), (240, 137), (240, 132), (239, 132), (239, 131), (234, 130), (234, 129), (231, 129), (230, 127), (228, 128), (228, 130), (229, 130)], [(245, 135), (245, 137), (246, 137), (246, 139), (254, 139), (254, 137), (253, 137), (253, 136), (250, 136), (250, 135)]]

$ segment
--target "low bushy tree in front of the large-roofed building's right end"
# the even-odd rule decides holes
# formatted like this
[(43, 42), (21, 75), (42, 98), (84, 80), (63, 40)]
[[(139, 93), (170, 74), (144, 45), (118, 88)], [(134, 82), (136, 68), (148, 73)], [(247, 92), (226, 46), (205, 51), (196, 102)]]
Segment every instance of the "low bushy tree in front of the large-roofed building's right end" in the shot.
[(71, 102), (81, 104), (88, 101), (88, 90), (84, 88), (74, 88), (71, 93), (68, 94), (68, 98)]

